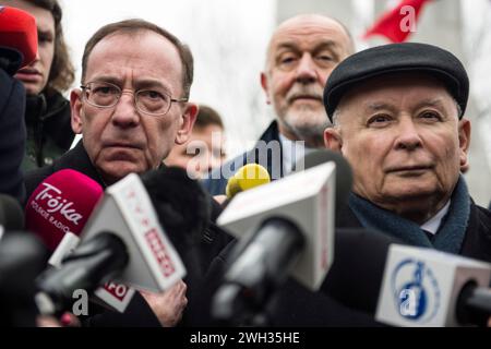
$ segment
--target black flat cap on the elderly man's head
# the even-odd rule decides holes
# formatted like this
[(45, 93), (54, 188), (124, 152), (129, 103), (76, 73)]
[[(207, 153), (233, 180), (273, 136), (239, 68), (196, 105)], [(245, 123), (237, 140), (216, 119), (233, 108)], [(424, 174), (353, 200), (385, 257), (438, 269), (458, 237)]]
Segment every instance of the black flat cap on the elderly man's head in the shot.
[(399, 72), (428, 73), (442, 81), (460, 106), (462, 118), (469, 97), (469, 77), (458, 58), (436, 46), (403, 43), (366, 49), (333, 70), (324, 88), (324, 106), (331, 122), (337, 105), (351, 87), (375, 76)]

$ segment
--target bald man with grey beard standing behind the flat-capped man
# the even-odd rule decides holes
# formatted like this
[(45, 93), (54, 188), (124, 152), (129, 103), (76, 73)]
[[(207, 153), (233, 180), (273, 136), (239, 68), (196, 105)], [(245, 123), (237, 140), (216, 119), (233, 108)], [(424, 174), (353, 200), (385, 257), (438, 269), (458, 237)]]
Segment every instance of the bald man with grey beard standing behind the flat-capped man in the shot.
[(279, 179), (310, 148), (323, 147), (330, 125), (322, 92), (332, 70), (354, 52), (345, 26), (327, 16), (302, 14), (282, 23), (270, 41), (261, 85), (276, 120), (254, 148), (211, 172), (205, 186), (214, 195), (225, 193), (227, 180), (244, 164), (264, 166)]

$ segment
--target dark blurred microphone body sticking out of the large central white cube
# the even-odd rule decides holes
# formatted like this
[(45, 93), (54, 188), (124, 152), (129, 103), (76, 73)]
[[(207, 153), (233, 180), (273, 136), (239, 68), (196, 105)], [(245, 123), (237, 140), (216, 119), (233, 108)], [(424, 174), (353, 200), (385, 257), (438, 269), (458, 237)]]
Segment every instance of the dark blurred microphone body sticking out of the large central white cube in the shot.
[[(279, 217), (266, 219), (251, 238), (240, 240), (228, 258), (225, 281), (213, 299), (213, 316), (242, 324), (260, 312), (287, 278), (304, 243), (301, 230)], [(282, 253), (273, 253), (268, 246)]]

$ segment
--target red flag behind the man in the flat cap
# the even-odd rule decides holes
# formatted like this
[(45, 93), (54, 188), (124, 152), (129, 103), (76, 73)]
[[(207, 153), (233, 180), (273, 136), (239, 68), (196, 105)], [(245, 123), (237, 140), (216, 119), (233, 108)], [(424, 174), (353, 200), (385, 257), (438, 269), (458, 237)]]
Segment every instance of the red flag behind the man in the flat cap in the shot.
[(364, 34), (363, 38), (371, 35), (383, 35), (393, 43), (403, 43), (411, 32), (416, 31), (416, 22), (426, 2), (431, 0), (403, 0), (393, 10), (386, 12)]

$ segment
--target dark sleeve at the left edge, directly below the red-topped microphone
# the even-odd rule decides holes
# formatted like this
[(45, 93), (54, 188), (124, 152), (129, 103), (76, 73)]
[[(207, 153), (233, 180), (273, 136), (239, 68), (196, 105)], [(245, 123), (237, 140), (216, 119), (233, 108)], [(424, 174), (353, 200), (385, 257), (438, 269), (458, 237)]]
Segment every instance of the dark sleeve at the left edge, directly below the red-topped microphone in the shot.
[(24, 106), (24, 86), (0, 65), (0, 193), (20, 202), (25, 195), (21, 170), (26, 140)]

